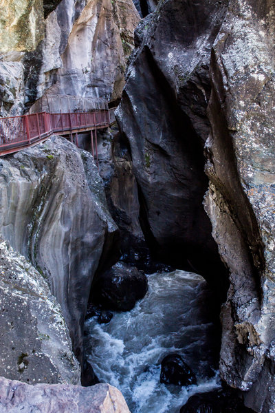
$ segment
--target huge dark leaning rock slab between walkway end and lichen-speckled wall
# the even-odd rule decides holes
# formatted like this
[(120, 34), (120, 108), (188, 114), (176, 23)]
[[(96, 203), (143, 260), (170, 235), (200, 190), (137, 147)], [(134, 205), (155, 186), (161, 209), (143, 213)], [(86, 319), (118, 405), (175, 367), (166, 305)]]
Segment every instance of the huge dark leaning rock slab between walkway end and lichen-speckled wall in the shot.
[(176, 268), (216, 271), (217, 282), (223, 268), (202, 207), (203, 143), (210, 130), (210, 48), (227, 3), (169, 0), (144, 19), (117, 112), (131, 147), (146, 240)]

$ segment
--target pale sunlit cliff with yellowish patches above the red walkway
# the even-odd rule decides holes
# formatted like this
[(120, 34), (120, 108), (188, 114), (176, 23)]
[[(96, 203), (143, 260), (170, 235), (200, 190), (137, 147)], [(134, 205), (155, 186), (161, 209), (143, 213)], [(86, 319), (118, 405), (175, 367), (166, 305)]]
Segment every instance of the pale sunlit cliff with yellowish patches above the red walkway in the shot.
[(140, 20), (131, 0), (4, 3), (0, 116), (21, 114), (46, 91), (120, 98)]

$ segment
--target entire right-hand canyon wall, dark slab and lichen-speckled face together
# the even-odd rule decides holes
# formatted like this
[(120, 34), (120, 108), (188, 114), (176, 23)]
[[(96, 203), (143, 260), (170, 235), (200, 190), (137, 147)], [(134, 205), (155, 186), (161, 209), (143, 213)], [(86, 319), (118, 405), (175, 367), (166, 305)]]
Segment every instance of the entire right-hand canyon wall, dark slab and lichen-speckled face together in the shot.
[(230, 273), (221, 377), (265, 413), (275, 408), (274, 27), (272, 1), (164, 1), (135, 31), (117, 112), (151, 246), (170, 262), (186, 255), (222, 293), (211, 232), (219, 246)]

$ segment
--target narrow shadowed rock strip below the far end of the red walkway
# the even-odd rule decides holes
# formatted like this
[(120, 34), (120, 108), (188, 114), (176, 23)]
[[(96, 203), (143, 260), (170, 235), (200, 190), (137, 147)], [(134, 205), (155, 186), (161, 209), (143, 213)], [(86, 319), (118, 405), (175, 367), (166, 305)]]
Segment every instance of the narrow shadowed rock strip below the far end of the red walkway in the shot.
[(139, 222), (140, 202), (129, 145), (116, 125), (98, 133), (98, 158), (108, 208), (121, 233), (122, 255), (131, 255), (134, 262), (133, 255), (145, 246)]

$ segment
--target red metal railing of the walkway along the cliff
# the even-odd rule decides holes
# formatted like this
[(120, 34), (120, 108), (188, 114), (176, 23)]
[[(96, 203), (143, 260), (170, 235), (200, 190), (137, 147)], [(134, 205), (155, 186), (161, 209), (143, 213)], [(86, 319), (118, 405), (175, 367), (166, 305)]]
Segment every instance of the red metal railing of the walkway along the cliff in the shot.
[[(111, 113), (111, 118), (113, 118), (113, 113)], [(0, 156), (45, 140), (54, 132), (85, 131), (85, 129), (107, 127), (111, 123), (108, 110), (72, 114), (42, 112), (0, 118)]]

